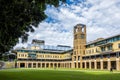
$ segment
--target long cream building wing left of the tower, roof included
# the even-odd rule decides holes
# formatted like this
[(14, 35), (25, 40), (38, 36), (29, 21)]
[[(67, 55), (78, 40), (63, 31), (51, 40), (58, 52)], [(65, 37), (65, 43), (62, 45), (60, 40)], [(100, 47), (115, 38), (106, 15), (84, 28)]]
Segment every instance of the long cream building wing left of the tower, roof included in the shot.
[(17, 50), (17, 66), (19, 68), (70, 68), (71, 56), (70, 46), (30, 44), (26, 49)]

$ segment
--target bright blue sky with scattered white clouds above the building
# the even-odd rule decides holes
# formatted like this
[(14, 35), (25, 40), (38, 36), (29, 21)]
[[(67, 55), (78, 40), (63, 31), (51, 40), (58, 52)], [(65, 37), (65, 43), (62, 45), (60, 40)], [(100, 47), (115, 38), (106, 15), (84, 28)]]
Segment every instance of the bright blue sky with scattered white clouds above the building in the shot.
[(120, 34), (120, 0), (67, 0), (59, 7), (47, 5), (47, 19), (29, 33), (26, 47), (32, 39), (45, 40), (46, 45), (73, 46), (73, 28), (76, 24), (87, 27), (87, 42)]

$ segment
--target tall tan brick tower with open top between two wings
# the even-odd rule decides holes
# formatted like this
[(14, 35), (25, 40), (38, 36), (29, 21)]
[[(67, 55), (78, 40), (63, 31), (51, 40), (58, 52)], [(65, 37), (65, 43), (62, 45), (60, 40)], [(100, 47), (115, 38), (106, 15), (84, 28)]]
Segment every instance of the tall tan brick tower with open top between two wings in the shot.
[(82, 56), (85, 54), (86, 25), (74, 26), (72, 68), (82, 68)]

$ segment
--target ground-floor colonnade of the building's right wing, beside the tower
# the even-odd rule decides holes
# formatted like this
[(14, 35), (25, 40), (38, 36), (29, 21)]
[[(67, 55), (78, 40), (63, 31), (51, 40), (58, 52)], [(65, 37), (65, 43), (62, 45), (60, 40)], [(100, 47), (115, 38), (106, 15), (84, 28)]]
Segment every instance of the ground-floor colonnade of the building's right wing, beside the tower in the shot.
[[(74, 67), (77, 68), (77, 63), (74, 62)], [(107, 60), (83, 60), (82, 64), (78, 62), (78, 66), (82, 65), (82, 69), (100, 69), (100, 70), (110, 70), (110, 68), (113, 68), (115, 70), (120, 70), (120, 59), (116, 58), (114, 60), (112, 59), (107, 59)]]

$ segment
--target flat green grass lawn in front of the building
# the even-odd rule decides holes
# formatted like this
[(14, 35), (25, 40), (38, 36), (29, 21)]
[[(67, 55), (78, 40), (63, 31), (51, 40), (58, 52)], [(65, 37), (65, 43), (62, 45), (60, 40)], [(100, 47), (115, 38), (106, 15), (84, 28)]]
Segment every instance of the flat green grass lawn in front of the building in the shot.
[(120, 80), (119, 72), (78, 69), (6, 69), (0, 80)]

